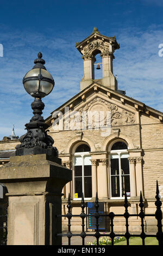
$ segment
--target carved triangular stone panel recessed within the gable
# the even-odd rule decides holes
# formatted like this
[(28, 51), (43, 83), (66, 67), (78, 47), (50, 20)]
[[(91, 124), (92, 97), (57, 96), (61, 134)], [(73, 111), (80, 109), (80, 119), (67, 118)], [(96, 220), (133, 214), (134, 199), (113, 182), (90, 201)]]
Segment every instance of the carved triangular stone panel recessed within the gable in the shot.
[(121, 105), (105, 95), (93, 93), (73, 109), (67, 107), (64, 114), (55, 115), (53, 130), (101, 129), (136, 124), (135, 109)]

